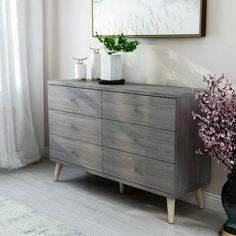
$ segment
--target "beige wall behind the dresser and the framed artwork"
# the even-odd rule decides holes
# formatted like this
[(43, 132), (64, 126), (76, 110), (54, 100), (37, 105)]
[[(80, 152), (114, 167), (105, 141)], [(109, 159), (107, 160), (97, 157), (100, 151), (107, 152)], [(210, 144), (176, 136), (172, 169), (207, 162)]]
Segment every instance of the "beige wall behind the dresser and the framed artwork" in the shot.
[[(45, 0), (45, 79), (71, 79), (72, 56), (87, 56), (91, 37), (90, 0)], [(202, 75), (224, 72), (236, 85), (236, 1), (208, 0), (207, 37), (140, 39), (124, 56), (124, 77), (132, 82), (201, 87)], [(206, 191), (220, 193), (226, 173), (212, 165)]]

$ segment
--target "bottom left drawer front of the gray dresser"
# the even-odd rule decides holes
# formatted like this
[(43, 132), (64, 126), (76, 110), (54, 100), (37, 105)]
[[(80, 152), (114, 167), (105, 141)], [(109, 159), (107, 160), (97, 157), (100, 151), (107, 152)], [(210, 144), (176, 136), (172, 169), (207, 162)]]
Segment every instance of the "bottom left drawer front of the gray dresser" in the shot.
[(102, 171), (102, 147), (50, 135), (50, 156), (88, 169)]

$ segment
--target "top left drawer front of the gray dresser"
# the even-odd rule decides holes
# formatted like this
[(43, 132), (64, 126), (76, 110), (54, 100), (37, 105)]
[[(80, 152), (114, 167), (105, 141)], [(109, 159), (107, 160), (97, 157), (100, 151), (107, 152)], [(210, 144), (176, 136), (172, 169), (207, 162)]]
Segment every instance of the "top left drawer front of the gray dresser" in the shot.
[(102, 92), (63, 86), (48, 86), (49, 109), (101, 117)]

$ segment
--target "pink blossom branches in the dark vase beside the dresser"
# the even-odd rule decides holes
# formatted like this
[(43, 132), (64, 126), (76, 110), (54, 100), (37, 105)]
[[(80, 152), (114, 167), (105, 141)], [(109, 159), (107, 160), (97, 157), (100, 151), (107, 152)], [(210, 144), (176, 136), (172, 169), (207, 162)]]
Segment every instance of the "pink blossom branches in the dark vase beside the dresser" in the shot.
[(224, 75), (204, 76), (203, 81), (208, 90), (195, 90), (200, 111), (192, 113), (193, 119), (198, 120), (205, 152), (236, 177), (236, 92)]

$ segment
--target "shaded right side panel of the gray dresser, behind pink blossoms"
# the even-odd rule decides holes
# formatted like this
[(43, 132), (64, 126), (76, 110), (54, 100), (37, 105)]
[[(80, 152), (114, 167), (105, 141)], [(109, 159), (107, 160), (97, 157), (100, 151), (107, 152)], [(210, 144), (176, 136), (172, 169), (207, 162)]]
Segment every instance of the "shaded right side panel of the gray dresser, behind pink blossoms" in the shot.
[(192, 118), (193, 110), (198, 110), (198, 103), (194, 97), (177, 100), (175, 139), (177, 196), (206, 185), (210, 179), (209, 158), (196, 154), (201, 142), (197, 122)]

